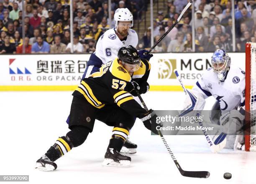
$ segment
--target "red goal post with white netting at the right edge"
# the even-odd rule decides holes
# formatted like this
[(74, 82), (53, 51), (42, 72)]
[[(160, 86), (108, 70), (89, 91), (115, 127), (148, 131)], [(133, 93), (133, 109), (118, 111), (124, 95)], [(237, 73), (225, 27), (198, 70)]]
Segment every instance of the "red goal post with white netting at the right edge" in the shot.
[(246, 43), (245, 150), (256, 151), (256, 43)]

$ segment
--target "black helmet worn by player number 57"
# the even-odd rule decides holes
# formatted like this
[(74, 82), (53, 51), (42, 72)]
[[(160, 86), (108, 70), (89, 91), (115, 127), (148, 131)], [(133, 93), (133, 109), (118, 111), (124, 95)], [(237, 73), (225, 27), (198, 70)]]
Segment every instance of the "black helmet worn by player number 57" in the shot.
[(118, 51), (118, 59), (124, 63), (136, 65), (140, 63), (140, 56), (132, 45), (121, 47)]

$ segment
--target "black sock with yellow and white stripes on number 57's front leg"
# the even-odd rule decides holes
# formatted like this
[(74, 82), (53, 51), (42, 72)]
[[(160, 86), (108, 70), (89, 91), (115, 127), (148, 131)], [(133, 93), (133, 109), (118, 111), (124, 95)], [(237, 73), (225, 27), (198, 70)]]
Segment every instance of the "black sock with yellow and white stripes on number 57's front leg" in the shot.
[(109, 141), (109, 147), (120, 151), (129, 135), (129, 129), (114, 127), (112, 131), (112, 137)]

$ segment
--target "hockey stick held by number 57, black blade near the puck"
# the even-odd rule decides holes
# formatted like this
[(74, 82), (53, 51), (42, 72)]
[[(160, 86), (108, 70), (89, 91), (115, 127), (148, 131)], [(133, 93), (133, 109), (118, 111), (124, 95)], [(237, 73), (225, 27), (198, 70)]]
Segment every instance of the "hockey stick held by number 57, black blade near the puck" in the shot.
[[(148, 111), (148, 108), (145, 104), (145, 102), (143, 101), (143, 99), (141, 98), (141, 95), (138, 93), (138, 91), (136, 91), (138, 98), (140, 99), (143, 107), (145, 108), (146, 111)], [(159, 136), (161, 136), (161, 139), (164, 143), (164, 146), (166, 147), (168, 153), (171, 155), (172, 160), (174, 161), (175, 165), (177, 166), (177, 168), (179, 169), (179, 172), (182, 176), (186, 176), (186, 177), (192, 177), (192, 178), (208, 178), (210, 176), (210, 172), (208, 171), (184, 171), (181, 166), (179, 165), (177, 159), (175, 158), (172, 150), (170, 149), (170, 147), (168, 146), (166, 140), (164, 139), (163, 134), (161, 133), (161, 131), (158, 130), (158, 134)]]

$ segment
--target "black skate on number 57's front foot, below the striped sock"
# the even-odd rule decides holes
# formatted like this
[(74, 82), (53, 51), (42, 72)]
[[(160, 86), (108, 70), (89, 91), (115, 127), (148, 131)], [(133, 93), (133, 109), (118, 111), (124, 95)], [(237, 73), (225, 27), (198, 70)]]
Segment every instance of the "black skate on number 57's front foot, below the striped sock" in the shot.
[(128, 167), (131, 165), (131, 157), (120, 154), (113, 148), (108, 148), (102, 166)]

